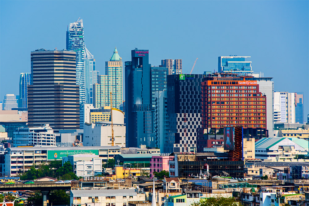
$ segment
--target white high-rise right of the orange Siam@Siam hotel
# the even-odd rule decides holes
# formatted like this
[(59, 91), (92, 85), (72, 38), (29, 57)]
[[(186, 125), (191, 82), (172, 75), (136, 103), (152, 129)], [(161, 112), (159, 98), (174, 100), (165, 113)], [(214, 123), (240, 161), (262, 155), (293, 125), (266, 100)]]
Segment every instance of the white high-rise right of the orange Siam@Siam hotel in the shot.
[(295, 123), (296, 93), (274, 92), (274, 121)]

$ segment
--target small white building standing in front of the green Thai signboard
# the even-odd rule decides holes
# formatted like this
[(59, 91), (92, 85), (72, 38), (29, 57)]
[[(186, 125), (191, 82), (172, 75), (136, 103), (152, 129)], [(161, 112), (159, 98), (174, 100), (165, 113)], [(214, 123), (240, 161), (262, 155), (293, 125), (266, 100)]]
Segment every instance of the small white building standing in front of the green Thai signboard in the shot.
[(102, 160), (99, 155), (73, 154), (62, 158), (62, 165), (70, 162), (78, 177), (91, 177), (102, 173)]

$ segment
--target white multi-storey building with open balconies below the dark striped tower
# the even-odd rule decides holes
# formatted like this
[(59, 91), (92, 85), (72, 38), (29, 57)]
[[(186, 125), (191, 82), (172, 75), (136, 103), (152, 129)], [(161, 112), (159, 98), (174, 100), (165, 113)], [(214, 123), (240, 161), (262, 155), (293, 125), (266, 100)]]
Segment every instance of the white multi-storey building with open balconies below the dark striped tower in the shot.
[(56, 145), (56, 135), (53, 133), (53, 128), (48, 124), (43, 127), (36, 128), (18, 128), (14, 132), (13, 146), (27, 146), (27, 145)]

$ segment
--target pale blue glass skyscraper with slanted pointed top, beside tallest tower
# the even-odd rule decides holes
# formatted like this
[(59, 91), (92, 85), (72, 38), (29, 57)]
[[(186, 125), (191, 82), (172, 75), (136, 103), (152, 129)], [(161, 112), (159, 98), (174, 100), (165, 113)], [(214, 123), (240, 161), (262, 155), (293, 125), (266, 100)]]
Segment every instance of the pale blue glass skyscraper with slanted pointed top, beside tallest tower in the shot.
[(92, 89), (93, 84), (96, 82), (93, 81), (93, 77), (96, 73), (95, 71), (95, 59), (93, 55), (89, 52), (89, 50), (85, 47), (85, 86), (86, 86), (86, 103), (92, 104)]

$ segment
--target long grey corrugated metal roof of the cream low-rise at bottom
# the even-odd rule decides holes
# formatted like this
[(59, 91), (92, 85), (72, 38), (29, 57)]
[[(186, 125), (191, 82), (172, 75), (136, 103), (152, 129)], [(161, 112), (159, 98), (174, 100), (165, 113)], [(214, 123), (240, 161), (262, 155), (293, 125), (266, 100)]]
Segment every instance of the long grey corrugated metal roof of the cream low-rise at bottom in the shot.
[(137, 196), (134, 189), (119, 190), (71, 190), (71, 197), (89, 197), (89, 196)]

